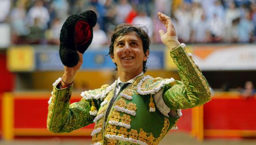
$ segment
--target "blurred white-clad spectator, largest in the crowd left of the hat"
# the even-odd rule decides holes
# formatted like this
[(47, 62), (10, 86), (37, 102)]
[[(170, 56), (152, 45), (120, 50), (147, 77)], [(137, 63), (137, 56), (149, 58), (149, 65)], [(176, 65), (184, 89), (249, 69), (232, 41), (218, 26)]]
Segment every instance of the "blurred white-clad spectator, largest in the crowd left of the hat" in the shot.
[(50, 15), (42, 0), (36, 0), (34, 6), (30, 8), (27, 14), (28, 26), (34, 26), (35, 19), (38, 18), (38, 25), (41, 29), (47, 29), (47, 23), (50, 21)]

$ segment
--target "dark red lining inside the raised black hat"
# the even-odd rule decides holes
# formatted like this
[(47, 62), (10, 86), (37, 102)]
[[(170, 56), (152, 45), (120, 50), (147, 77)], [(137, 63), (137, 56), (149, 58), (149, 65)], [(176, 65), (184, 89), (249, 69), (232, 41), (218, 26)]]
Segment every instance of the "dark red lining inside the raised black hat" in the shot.
[(75, 24), (75, 45), (77, 47), (87, 43), (92, 36), (90, 25), (82, 20)]

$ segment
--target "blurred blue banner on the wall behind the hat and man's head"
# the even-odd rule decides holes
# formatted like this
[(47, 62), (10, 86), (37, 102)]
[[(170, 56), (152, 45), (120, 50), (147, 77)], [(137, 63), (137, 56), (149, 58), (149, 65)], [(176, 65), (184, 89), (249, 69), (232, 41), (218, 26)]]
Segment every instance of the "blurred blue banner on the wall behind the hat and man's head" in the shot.
[[(63, 70), (60, 61), (59, 51), (56, 49), (36, 50), (36, 70), (58, 71)], [(95, 50), (86, 51), (83, 54), (83, 64), (81, 70), (86, 69), (114, 69), (115, 65), (111, 58), (106, 56), (108, 51)], [(148, 69), (162, 69), (164, 54), (163, 51), (151, 51), (147, 60)]]

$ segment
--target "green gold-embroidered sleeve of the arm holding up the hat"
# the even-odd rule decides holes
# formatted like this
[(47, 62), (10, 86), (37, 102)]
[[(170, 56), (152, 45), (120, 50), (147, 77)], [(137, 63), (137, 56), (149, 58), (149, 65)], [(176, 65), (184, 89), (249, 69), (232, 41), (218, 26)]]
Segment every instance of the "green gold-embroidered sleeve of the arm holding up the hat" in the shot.
[(72, 87), (53, 88), (47, 117), (47, 128), (53, 133), (71, 132), (93, 123), (94, 116), (90, 115), (90, 102), (81, 99), (70, 104), (71, 92)]

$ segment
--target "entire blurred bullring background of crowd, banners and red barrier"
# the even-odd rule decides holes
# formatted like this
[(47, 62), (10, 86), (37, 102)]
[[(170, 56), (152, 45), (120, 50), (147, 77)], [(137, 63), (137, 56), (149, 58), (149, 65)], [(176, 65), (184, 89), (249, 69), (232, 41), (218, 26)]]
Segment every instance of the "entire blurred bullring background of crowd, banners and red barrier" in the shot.
[(146, 74), (180, 80), (161, 43), (172, 18), (178, 39), (212, 87), (212, 101), (184, 109), (161, 145), (256, 145), (256, 0), (0, 0), (0, 145), (89, 145), (93, 124), (69, 134), (46, 129), (52, 83), (62, 76), (60, 29), (68, 16), (94, 10), (94, 40), (83, 55), (72, 102), (117, 79), (108, 54), (116, 25), (146, 25)]

